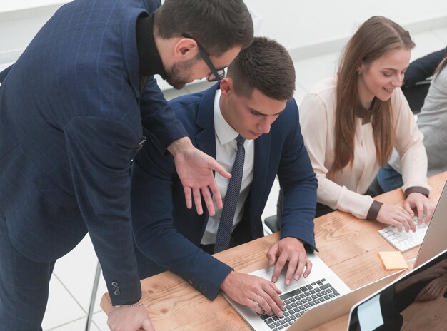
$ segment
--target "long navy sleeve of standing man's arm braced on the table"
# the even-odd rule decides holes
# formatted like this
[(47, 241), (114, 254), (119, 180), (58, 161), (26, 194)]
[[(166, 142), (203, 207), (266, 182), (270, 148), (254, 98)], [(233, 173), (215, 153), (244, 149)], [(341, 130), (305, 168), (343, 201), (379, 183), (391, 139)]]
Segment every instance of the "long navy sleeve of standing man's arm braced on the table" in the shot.
[(77, 116), (64, 128), (76, 200), (113, 305), (141, 297), (132, 240), (129, 170), (139, 138), (121, 121)]

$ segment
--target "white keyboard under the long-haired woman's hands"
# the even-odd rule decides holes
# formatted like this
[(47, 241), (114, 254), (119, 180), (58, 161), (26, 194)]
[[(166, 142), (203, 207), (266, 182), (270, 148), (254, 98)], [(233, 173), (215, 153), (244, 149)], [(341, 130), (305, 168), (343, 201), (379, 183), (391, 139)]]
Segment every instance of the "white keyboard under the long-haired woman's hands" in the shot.
[(399, 232), (394, 225), (390, 225), (387, 228), (378, 230), (378, 233), (385, 238), (388, 243), (391, 243), (396, 249), (401, 252), (406, 250), (411, 250), (411, 248), (421, 245), (423, 237), (426, 235), (428, 225), (425, 222), (418, 224), (418, 218), (413, 219), (416, 225), (416, 232), (413, 233), (412, 230), (406, 232), (405, 228), (402, 227), (402, 231)]

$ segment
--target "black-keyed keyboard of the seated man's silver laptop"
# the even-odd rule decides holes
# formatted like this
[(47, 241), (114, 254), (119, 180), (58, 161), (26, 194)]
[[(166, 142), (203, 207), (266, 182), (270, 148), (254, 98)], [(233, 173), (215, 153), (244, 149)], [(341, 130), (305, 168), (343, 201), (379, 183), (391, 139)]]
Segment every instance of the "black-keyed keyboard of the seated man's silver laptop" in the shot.
[(284, 317), (279, 318), (276, 315), (268, 316), (260, 315), (263, 321), (271, 330), (285, 330), (292, 325), (306, 310), (319, 305), (322, 302), (331, 300), (333, 297), (340, 295), (332, 285), (323, 278), (309, 285), (297, 288), (291, 292), (280, 295), (284, 303)]

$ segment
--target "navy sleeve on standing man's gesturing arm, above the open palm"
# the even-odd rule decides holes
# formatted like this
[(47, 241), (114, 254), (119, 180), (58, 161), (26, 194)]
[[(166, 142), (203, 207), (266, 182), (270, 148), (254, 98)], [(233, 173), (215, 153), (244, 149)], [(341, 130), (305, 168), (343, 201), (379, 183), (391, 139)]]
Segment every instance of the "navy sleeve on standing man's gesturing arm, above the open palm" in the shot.
[(141, 123), (146, 134), (156, 142), (154, 147), (159, 153), (165, 153), (171, 143), (187, 136), (183, 124), (176, 119), (154, 77), (146, 81), (141, 93), (140, 109)]

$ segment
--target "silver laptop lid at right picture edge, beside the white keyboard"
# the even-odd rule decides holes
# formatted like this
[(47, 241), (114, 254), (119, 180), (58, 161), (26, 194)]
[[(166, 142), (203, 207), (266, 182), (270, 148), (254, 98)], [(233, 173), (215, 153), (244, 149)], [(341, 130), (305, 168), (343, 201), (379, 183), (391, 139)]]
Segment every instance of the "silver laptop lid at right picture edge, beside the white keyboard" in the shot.
[(413, 268), (418, 267), (427, 260), (447, 249), (447, 183), (436, 205), (435, 213), (428, 224), (426, 235), (423, 238), (418, 256)]

